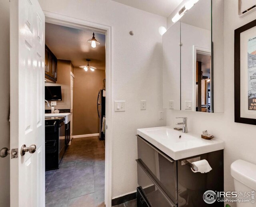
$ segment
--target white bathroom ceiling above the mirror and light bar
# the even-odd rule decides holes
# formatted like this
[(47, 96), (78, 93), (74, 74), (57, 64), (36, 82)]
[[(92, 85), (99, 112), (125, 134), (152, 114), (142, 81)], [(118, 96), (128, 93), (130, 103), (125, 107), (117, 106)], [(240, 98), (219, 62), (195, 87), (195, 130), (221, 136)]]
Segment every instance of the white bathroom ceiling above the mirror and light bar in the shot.
[(112, 0), (146, 12), (168, 17), (182, 0)]

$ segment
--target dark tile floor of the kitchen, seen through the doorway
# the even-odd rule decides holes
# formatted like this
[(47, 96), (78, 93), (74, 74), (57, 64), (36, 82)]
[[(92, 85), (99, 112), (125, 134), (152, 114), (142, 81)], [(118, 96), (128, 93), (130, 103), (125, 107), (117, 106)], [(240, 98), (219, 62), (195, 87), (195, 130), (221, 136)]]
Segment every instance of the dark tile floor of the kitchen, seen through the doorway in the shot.
[(45, 173), (46, 207), (104, 207), (104, 144), (98, 136), (72, 140), (60, 168)]

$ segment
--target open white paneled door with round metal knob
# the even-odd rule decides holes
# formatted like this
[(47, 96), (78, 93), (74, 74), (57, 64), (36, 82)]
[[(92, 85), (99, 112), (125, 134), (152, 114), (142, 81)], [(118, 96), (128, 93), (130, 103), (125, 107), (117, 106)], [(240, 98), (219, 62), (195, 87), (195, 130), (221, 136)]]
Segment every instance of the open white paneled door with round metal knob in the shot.
[[(10, 0), (10, 206), (44, 207), (45, 18), (37, 0)], [(21, 155), (21, 147), (36, 151)], [(31, 149), (31, 148), (30, 148)]]

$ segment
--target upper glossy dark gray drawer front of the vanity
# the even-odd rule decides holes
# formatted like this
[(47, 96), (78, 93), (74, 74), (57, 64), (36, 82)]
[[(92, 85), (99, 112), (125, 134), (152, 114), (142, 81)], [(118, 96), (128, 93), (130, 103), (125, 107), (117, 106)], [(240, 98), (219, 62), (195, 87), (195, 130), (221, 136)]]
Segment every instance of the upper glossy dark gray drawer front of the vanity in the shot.
[(142, 160), (160, 187), (177, 204), (177, 162), (138, 135), (137, 144), (138, 159)]

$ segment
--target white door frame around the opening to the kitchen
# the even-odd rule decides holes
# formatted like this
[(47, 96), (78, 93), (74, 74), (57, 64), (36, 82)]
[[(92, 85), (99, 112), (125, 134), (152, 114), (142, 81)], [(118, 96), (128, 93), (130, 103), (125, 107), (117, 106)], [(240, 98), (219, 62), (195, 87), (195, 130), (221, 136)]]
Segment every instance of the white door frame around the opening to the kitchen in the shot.
[(80, 30), (91, 30), (106, 35), (106, 141), (105, 141), (105, 205), (111, 207), (112, 201), (112, 27), (95, 22), (88, 22), (53, 12), (44, 11), (45, 22), (76, 28)]

